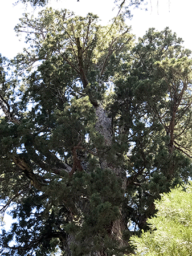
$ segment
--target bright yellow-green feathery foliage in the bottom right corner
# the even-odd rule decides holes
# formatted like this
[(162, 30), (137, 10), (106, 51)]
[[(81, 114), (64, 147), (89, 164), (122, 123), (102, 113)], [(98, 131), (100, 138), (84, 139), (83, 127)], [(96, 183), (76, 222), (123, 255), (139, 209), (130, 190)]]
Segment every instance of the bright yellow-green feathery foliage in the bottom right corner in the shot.
[(191, 184), (171, 189), (155, 204), (158, 212), (148, 220), (151, 230), (131, 238), (134, 255), (191, 255)]

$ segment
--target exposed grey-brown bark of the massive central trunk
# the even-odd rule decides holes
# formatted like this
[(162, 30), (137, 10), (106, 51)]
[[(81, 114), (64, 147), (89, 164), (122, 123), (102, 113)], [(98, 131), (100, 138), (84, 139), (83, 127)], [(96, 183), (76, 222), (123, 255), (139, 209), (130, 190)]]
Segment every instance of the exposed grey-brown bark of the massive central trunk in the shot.
[[(107, 157), (108, 149), (112, 146), (112, 119), (108, 117), (107, 112), (105, 109), (99, 105), (95, 107), (95, 112), (97, 116), (96, 121), (96, 131), (99, 132), (104, 137), (104, 145), (105, 149), (104, 152), (99, 153), (100, 159), (100, 168), (101, 169), (110, 169), (111, 172), (115, 173), (118, 179), (121, 179), (122, 182), (122, 190), (123, 190), (123, 197), (125, 194), (126, 189), (126, 174), (125, 170), (121, 168), (121, 166), (116, 166), (114, 161), (109, 161)], [(123, 198), (122, 198), (123, 200)], [(82, 206), (83, 207), (83, 206)], [(73, 220), (72, 220), (73, 221)], [(127, 242), (123, 240), (123, 231), (127, 229), (125, 218), (122, 214), (122, 206), (119, 207), (119, 218), (113, 221), (111, 225), (111, 230), (108, 230), (109, 237), (115, 239), (119, 243), (119, 247), (123, 247), (127, 245)], [(79, 241), (76, 241), (75, 235), (67, 234), (67, 239), (63, 242), (63, 251), (67, 256), (73, 256), (71, 246), (75, 244), (78, 247)], [(82, 241), (83, 242), (83, 241)], [(94, 246), (93, 242), (91, 242)], [(90, 249), (93, 247), (90, 245)], [(98, 251), (94, 251), (92, 253), (87, 254), (87, 256), (107, 256), (107, 250), (104, 248), (104, 245), (101, 245), (102, 249)]]

